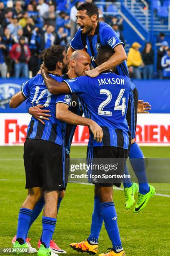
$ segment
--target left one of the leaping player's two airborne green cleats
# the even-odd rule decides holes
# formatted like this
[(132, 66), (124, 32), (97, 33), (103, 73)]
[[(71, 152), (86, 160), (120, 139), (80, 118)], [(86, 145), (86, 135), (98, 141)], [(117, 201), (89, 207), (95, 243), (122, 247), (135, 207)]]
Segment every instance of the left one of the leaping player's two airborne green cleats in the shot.
[(138, 189), (139, 189), (139, 187), (138, 187), (138, 184), (136, 184), (136, 183), (132, 183), (131, 187), (124, 188), (124, 193), (125, 193), (125, 198), (126, 198), (126, 202), (125, 202), (126, 210), (129, 210), (132, 207), (132, 205), (134, 204), (134, 202), (135, 202), (134, 195), (138, 191)]

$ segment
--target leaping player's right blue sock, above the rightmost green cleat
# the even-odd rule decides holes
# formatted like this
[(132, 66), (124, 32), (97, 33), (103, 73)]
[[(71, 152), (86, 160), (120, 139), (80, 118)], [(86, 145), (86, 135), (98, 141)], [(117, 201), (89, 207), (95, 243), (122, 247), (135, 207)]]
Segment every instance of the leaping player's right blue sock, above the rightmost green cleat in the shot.
[(135, 175), (138, 179), (139, 193), (145, 195), (149, 192), (150, 188), (145, 172), (144, 155), (137, 143), (130, 145), (129, 159), (130, 164), (132, 165)]

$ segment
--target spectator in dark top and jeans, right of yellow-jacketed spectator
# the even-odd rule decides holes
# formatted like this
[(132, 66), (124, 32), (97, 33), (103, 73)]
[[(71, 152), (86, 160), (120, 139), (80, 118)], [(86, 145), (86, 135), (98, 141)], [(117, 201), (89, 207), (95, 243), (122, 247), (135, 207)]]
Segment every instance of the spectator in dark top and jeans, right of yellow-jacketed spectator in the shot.
[(143, 67), (143, 78), (153, 78), (154, 51), (150, 42), (145, 44), (145, 48), (142, 51), (142, 59), (145, 65)]

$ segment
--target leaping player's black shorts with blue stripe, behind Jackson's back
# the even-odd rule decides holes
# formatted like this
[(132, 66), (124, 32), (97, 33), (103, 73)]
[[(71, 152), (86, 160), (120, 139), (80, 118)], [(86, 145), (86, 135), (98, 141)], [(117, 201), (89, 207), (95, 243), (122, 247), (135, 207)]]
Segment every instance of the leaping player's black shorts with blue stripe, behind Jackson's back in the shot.
[(128, 109), (126, 114), (126, 120), (128, 122), (132, 139), (135, 138), (137, 113), (138, 113), (138, 90), (135, 87), (134, 90), (130, 90), (130, 97), (129, 97)]

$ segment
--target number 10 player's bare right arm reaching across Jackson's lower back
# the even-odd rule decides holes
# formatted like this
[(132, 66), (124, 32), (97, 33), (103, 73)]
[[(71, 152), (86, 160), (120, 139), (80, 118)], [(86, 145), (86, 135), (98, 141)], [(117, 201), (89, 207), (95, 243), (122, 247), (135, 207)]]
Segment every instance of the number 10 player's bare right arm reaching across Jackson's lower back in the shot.
[(68, 108), (69, 105), (67, 104), (57, 103), (56, 118), (61, 120), (62, 122), (70, 123), (72, 125), (88, 126), (94, 135), (94, 140), (96, 140), (97, 142), (101, 142), (103, 137), (102, 128), (92, 119), (76, 115), (68, 110)]

